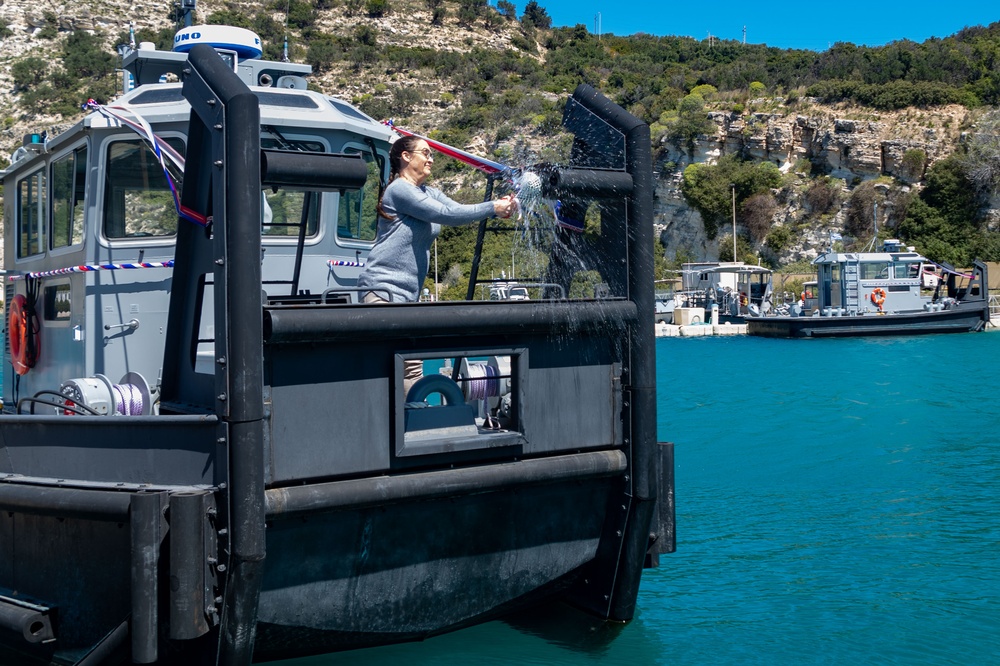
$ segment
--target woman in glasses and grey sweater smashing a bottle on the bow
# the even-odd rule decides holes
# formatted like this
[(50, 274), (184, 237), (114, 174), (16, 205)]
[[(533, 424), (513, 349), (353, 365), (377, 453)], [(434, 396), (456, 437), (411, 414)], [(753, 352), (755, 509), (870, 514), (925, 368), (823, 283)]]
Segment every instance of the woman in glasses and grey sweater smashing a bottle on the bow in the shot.
[(513, 195), (469, 205), (449, 199), (425, 184), (433, 164), (434, 153), (418, 137), (400, 137), (389, 150), (389, 184), (378, 203), (375, 247), (358, 278), (366, 303), (418, 300), (442, 225), (507, 218), (517, 209)]

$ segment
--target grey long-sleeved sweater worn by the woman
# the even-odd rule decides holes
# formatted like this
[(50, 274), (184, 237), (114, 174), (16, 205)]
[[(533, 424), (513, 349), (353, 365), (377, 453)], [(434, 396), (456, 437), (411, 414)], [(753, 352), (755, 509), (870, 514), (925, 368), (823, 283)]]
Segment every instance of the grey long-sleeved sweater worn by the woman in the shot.
[(460, 204), (441, 190), (417, 187), (402, 178), (385, 188), (382, 209), (395, 219), (379, 217), (375, 247), (358, 278), (358, 288), (382, 298), (388, 294), (393, 303), (419, 299), (431, 245), (441, 225), (457, 227), (494, 217), (492, 201)]

